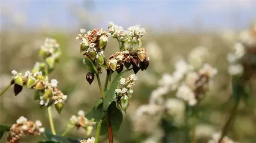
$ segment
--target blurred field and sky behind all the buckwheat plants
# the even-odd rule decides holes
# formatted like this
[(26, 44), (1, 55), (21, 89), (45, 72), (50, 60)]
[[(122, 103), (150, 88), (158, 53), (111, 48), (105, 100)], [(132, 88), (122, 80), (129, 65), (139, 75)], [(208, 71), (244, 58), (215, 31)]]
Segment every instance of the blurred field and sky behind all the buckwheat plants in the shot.
[[(77, 115), (80, 109), (88, 112), (100, 96), (96, 81), (91, 85), (86, 81), (87, 69), (81, 62), (79, 42), (75, 41), (79, 29), (107, 30), (108, 21), (124, 28), (140, 24), (147, 31), (143, 47), (151, 58), (150, 66), (145, 72), (137, 73), (139, 80), (121, 129), (114, 134), (115, 143), (138, 142), (139, 133), (134, 132), (131, 120), (134, 112), (140, 105), (148, 103), (151, 91), (157, 88), (162, 75), (173, 72), (175, 59), (180, 56), (187, 59), (198, 47), (209, 50), (205, 61), (218, 69), (214, 86), (201, 105), (204, 118), (198, 126), (197, 137), (206, 143), (213, 132), (221, 129), (230, 110), (227, 101), (232, 94), (231, 78), (226, 56), (239, 32), (250, 28), (256, 20), (255, 7), (255, 0), (1, 0), (0, 90), (11, 80), (12, 70), (24, 73), (40, 61), (38, 50), (46, 37), (57, 39), (62, 56), (49, 77), (57, 79), (59, 89), (68, 95), (61, 115), (53, 110), (55, 127), (61, 134), (71, 115)], [(117, 42), (111, 39), (105, 54), (110, 56), (116, 50)], [(103, 82), (104, 74), (100, 77)], [(253, 85), (255, 95), (256, 82)], [(251, 118), (252, 112), (244, 112), (247, 111), (244, 108), (241, 104), (230, 137), (240, 143), (255, 143), (256, 122)], [(256, 116), (256, 109), (253, 113)], [(38, 102), (33, 101), (32, 90), (25, 89), (15, 97), (9, 89), (0, 97), (0, 124), (13, 124), (22, 115), (33, 121), (40, 119), (43, 126), (50, 129), (46, 108), (40, 109)], [(69, 136), (84, 137), (85, 134), (81, 129), (73, 129)], [(23, 137), (20, 142), (35, 143), (40, 139), (43, 135)], [(3, 137), (0, 143), (4, 142)], [(107, 137), (102, 137), (102, 142), (107, 143)]]

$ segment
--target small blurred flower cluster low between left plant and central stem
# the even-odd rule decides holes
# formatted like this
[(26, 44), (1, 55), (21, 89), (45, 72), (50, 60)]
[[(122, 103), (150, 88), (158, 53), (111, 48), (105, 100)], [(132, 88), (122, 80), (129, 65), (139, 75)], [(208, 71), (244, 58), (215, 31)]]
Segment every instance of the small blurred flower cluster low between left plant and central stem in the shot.
[(72, 128), (73, 126), (77, 126), (77, 127), (82, 126), (86, 130), (86, 135), (90, 135), (93, 131), (93, 125), (95, 125), (95, 122), (92, 122), (87, 118), (84, 118), (84, 115), (85, 115), (84, 111), (79, 110), (78, 116), (76, 115), (71, 116), (67, 127)]

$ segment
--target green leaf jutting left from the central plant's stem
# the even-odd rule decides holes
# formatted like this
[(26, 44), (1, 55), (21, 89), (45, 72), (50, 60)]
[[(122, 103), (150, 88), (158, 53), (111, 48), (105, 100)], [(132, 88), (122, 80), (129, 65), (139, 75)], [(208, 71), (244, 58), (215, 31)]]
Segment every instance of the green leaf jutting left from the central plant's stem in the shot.
[(106, 112), (102, 110), (103, 103), (100, 103), (97, 107), (93, 107), (93, 109), (88, 112), (84, 117), (88, 120), (96, 120), (102, 121), (106, 117)]

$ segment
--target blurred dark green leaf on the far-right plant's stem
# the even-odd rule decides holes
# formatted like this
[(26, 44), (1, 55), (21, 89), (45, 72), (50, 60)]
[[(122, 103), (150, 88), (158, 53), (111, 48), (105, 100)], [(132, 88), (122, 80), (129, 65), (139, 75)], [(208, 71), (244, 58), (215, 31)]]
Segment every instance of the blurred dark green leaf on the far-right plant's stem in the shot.
[(239, 77), (232, 78), (232, 92), (236, 101), (239, 101), (241, 96), (244, 95), (244, 87), (239, 83), (239, 81)]

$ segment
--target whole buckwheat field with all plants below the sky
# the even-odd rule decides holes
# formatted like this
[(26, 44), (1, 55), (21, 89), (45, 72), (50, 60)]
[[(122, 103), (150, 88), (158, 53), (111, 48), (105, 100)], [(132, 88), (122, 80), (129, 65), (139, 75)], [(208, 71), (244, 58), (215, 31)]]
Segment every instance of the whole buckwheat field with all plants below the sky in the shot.
[(0, 55), (0, 143), (256, 143), (254, 23), (1, 31)]

